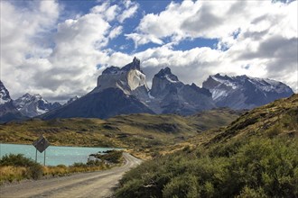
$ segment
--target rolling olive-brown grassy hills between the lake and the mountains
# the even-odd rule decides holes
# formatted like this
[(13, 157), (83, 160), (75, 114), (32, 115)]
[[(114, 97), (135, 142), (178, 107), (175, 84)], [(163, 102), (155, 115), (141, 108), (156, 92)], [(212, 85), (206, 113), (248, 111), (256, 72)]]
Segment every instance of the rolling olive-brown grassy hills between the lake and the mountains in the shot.
[(0, 141), (32, 144), (43, 134), (51, 145), (132, 148), (144, 156), (151, 156), (162, 147), (190, 139), (204, 130), (228, 125), (238, 114), (218, 109), (189, 117), (143, 113), (108, 120), (73, 118), (9, 122), (0, 125)]

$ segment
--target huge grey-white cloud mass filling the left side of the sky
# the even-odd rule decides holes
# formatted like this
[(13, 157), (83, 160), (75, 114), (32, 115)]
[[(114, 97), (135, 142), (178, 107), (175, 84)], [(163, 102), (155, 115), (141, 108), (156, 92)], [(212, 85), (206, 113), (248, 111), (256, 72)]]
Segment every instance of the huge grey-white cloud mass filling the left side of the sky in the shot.
[(12, 97), (29, 92), (67, 100), (87, 94), (102, 71), (98, 64), (116, 57), (107, 49), (123, 31), (116, 16), (124, 14), (124, 22), (135, 8), (131, 2), (103, 3), (57, 23), (63, 8), (56, 1), (33, 1), (25, 9), (1, 1), (1, 79)]

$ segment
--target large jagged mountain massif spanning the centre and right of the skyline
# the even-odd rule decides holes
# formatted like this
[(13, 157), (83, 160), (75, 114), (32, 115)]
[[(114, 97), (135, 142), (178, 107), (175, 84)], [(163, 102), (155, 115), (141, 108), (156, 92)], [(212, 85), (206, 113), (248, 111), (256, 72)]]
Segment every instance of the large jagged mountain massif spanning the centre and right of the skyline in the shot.
[(248, 76), (215, 75), (202, 88), (185, 85), (172, 74), (170, 67), (154, 76), (150, 90), (140, 60), (134, 58), (125, 67), (107, 67), (90, 93), (41, 117), (106, 119), (138, 112), (189, 115), (221, 106), (253, 108), (291, 94), (291, 88), (280, 82)]

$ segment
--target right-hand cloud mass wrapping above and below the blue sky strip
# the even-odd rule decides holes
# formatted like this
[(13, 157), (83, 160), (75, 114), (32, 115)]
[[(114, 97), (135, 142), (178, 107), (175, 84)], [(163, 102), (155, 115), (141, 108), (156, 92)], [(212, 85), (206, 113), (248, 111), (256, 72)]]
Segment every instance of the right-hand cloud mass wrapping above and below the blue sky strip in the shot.
[[(181, 4), (169, 4), (159, 14), (145, 14), (135, 32), (126, 34), (126, 38), (134, 40), (136, 47), (149, 42), (160, 44), (161, 48), (144, 52), (147, 54), (144, 65), (172, 66), (172, 70), (176, 70), (186, 82), (200, 84), (202, 78), (218, 72), (246, 74), (274, 77), (291, 85), (297, 92), (296, 10), (296, 1), (286, 4), (270, 1), (183, 1)], [(170, 42), (167, 42), (169, 38)], [(209, 53), (202, 53), (199, 49), (163, 49), (188, 38), (215, 38), (219, 40), (218, 48), (209, 49)], [(215, 56), (212, 61), (210, 54)], [(183, 62), (185, 58), (188, 61)], [(188, 67), (189, 71), (196, 72), (185, 75)]]

